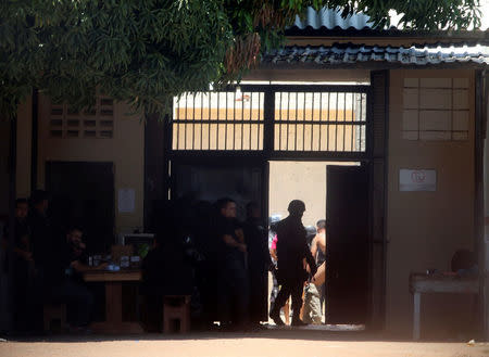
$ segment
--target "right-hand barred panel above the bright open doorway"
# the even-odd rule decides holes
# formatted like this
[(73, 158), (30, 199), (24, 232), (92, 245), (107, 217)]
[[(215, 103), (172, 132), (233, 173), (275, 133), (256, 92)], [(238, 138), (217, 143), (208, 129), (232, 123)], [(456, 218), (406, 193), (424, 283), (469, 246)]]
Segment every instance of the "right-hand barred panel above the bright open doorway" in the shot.
[(365, 92), (275, 93), (275, 151), (365, 152)]

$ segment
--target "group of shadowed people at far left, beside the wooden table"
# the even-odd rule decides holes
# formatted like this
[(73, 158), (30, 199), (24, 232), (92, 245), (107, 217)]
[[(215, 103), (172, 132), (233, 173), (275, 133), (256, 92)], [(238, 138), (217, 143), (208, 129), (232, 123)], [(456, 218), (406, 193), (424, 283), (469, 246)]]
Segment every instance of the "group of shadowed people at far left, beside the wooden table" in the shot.
[[(17, 333), (42, 332), (42, 307), (47, 303), (65, 303), (68, 328), (85, 331), (93, 296), (83, 283), (82, 273), (104, 268), (88, 266), (82, 228), (71, 226), (63, 231), (51, 222), (48, 199), (46, 191), (37, 190), (30, 200), (16, 200), (13, 254), (7, 255), (3, 268), (13, 268), (13, 321)], [(11, 227), (5, 227), (2, 252), (9, 251), (10, 232)]]

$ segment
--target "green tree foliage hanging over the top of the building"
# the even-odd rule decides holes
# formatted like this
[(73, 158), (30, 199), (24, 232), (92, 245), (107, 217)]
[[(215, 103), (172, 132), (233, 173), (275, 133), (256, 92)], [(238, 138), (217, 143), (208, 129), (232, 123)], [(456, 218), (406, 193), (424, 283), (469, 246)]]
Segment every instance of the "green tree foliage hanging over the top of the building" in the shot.
[(0, 113), (13, 117), (32, 89), (74, 106), (97, 93), (166, 113), (174, 95), (226, 84), (280, 46), (306, 7), (390, 9), (417, 29), (478, 24), (478, 0), (3, 0)]

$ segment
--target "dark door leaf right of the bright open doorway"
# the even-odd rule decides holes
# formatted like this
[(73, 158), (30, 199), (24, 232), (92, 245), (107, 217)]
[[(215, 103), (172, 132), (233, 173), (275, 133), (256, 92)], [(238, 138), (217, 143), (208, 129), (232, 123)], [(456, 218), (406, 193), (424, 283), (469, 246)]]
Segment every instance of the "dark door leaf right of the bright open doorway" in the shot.
[(368, 314), (368, 170), (328, 166), (326, 321), (364, 324)]

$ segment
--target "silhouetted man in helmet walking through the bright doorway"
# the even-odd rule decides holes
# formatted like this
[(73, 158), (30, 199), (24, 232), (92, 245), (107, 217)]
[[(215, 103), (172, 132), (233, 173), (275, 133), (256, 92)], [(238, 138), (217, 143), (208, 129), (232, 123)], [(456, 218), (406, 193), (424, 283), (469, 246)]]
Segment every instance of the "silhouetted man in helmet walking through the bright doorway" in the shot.
[(302, 215), (305, 205), (302, 201), (293, 200), (289, 203), (289, 216), (277, 225), (277, 275), (281, 284), (274, 308), (269, 317), (278, 326), (283, 326), (280, 308), (285, 305), (289, 295), (292, 296), (292, 326), (305, 324), (299, 318), (302, 306), (302, 289), (308, 279), (304, 268), (304, 259), (311, 273), (316, 272), (316, 265), (306, 242), (305, 228), (302, 225)]

